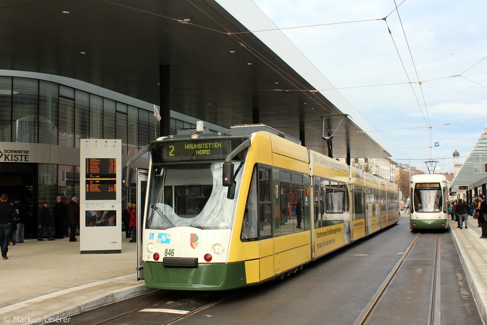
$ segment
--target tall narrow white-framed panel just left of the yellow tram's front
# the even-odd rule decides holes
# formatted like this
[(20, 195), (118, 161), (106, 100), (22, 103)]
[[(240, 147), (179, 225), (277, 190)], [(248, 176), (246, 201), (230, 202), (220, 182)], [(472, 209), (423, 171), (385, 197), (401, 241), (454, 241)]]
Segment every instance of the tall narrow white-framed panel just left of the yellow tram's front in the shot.
[[(147, 175), (148, 170), (137, 168), (137, 280), (144, 279), (144, 265), (142, 263), (142, 229), (144, 222), (144, 210), (146, 208)], [(132, 234), (134, 236), (135, 234)]]

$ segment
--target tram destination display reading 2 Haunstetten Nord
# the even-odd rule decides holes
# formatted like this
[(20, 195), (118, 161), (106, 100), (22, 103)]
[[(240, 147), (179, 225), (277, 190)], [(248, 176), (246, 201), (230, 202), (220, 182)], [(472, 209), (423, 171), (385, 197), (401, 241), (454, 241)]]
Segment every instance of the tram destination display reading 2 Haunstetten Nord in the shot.
[[(154, 142), (151, 148), (152, 161), (156, 164), (183, 161), (223, 161), (242, 142), (242, 138)], [(243, 160), (243, 153), (239, 153), (235, 159)]]

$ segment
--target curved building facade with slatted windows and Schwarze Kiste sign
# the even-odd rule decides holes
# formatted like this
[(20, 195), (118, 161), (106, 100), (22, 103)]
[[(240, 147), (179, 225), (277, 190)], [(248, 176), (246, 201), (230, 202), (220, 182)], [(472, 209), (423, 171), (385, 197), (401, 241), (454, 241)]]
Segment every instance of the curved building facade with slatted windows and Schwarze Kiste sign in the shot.
[[(79, 197), (80, 139), (121, 139), (125, 164), (159, 136), (153, 107), (71, 78), (0, 71), (0, 193), (26, 203), (27, 238), (37, 236), (43, 201), (54, 207), (57, 195)], [(195, 124), (171, 111), (171, 134)]]

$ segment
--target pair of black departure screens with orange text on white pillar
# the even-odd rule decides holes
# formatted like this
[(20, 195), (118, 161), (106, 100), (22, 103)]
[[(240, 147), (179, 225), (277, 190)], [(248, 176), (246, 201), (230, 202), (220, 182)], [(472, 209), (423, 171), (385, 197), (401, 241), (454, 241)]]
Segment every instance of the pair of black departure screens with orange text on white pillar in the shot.
[(116, 200), (117, 159), (86, 158), (86, 200)]

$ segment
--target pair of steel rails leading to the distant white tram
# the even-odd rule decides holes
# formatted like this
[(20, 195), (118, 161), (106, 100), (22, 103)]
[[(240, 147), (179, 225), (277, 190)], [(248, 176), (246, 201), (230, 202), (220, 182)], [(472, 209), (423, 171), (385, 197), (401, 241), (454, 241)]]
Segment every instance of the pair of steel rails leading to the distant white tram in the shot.
[[(406, 249), (402, 257), (393, 267), (391, 272), (385, 278), (384, 282), (381, 286), (377, 289), (374, 296), (371, 298), (367, 306), (362, 310), (362, 312), (358, 315), (354, 325), (363, 325), (367, 324), (371, 316), (374, 313), (375, 308), (378, 306), (378, 303), (381, 297), (384, 295), (386, 290), (389, 288), (391, 282), (393, 281), (394, 277), (396, 276), (397, 272), (401, 268), (403, 262), (408, 258), (409, 253), (411, 252), (412, 248), (416, 244), (418, 238), (420, 237), (421, 233), (416, 234), (414, 237), (411, 245)], [(435, 250), (434, 250), (434, 257), (433, 257), (433, 271), (432, 271), (432, 278), (431, 278), (431, 291), (430, 291), (430, 302), (429, 302), (429, 311), (428, 311), (428, 325), (440, 325), (441, 324), (441, 276), (440, 276), (440, 235), (436, 234), (436, 242), (435, 242)]]

